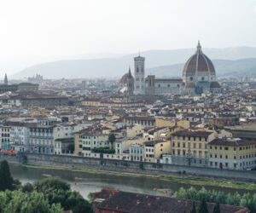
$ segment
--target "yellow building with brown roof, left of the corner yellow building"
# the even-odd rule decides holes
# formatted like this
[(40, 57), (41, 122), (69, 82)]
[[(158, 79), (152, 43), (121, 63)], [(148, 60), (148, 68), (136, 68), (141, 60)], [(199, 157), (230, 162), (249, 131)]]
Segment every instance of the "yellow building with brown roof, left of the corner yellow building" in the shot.
[(181, 130), (172, 134), (172, 163), (207, 166), (208, 143), (212, 131)]

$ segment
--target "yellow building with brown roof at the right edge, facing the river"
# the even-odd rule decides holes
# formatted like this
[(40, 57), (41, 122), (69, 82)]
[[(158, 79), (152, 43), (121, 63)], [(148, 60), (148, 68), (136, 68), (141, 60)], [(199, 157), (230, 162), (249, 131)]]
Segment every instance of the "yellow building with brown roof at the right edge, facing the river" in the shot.
[(217, 138), (208, 147), (209, 167), (230, 170), (256, 167), (256, 141)]

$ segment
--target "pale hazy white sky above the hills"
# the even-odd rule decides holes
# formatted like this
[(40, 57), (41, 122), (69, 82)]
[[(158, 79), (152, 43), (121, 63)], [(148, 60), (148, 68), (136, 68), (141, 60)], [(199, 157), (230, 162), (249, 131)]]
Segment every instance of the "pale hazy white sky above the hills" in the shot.
[(198, 39), (256, 46), (256, 0), (0, 0), (1, 60), (190, 48)]

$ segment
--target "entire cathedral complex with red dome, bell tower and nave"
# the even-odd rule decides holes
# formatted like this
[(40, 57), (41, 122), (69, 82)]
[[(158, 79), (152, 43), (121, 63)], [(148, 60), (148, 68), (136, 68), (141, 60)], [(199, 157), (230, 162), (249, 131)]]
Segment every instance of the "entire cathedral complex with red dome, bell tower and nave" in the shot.
[(183, 78), (156, 78), (154, 75), (145, 78), (144, 64), (144, 57), (135, 57), (134, 78), (130, 68), (121, 78), (120, 91), (125, 95), (201, 94), (220, 91), (215, 68), (207, 55), (203, 54), (199, 42), (195, 54), (183, 67)]

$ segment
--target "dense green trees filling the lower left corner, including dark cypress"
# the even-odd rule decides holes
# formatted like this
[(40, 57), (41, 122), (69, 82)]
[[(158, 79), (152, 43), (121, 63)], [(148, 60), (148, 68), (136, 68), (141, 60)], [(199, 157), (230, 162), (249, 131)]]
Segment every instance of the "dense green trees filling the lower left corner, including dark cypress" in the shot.
[(0, 166), (0, 212), (42, 212), (92, 213), (90, 203), (70, 185), (57, 177), (45, 178), (33, 184), (14, 181), (9, 172), (9, 164), (2, 161)]

